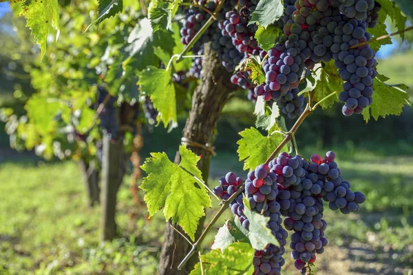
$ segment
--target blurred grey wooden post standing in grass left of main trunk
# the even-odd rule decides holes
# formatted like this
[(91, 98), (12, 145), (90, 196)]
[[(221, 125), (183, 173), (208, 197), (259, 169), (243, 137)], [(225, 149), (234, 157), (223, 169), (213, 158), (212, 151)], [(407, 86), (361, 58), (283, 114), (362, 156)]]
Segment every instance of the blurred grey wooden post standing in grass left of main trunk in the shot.
[(116, 236), (116, 195), (125, 175), (125, 152), (123, 139), (112, 140), (110, 135), (103, 135), (102, 159), (102, 241), (112, 240)]

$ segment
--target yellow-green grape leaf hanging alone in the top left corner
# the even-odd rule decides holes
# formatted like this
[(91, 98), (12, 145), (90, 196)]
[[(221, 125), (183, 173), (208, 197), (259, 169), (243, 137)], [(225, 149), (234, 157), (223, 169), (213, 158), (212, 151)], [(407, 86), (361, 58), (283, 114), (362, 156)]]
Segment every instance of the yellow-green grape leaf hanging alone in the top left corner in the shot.
[(32, 34), (40, 45), (40, 58), (43, 59), (47, 47), (47, 36), (50, 34), (50, 26), (58, 31), (56, 40), (59, 38), (60, 21), (58, 0), (27, 0), (23, 3), (19, 15), (23, 15), (25, 19), (27, 19), (26, 27), (32, 30)]

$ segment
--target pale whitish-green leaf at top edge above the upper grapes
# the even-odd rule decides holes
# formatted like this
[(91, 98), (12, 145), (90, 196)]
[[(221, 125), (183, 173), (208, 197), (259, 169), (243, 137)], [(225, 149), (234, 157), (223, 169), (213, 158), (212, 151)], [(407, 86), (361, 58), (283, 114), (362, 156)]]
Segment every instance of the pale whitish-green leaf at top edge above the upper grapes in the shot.
[(284, 4), (282, 0), (261, 0), (257, 8), (251, 14), (248, 25), (258, 23), (264, 28), (271, 25), (284, 15)]

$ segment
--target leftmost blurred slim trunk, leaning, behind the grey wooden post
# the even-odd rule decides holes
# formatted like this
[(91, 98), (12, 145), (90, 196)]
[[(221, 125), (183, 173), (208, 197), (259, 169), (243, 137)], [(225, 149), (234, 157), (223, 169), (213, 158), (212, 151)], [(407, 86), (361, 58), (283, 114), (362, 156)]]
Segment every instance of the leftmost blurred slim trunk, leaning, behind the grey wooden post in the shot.
[(100, 190), (98, 170), (93, 167), (93, 164), (90, 164), (85, 159), (81, 159), (78, 162), (78, 166), (82, 171), (89, 206), (94, 206), (95, 203), (99, 203)]

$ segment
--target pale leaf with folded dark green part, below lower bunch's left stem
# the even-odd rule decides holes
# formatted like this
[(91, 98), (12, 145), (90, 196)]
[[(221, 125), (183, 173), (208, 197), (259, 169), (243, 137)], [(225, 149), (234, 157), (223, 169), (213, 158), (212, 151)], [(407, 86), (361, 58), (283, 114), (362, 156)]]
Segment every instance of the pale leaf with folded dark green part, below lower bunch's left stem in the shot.
[(223, 252), (228, 245), (231, 245), (231, 243), (237, 241), (249, 243), (247, 234), (248, 230), (242, 227), (240, 219), (234, 217), (233, 219), (226, 221), (218, 230), (211, 249), (220, 249)]

